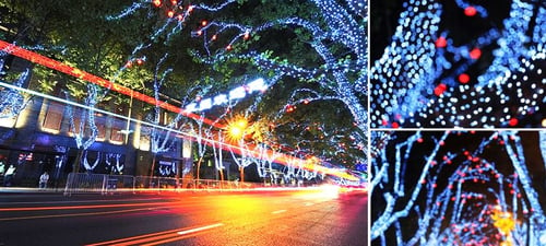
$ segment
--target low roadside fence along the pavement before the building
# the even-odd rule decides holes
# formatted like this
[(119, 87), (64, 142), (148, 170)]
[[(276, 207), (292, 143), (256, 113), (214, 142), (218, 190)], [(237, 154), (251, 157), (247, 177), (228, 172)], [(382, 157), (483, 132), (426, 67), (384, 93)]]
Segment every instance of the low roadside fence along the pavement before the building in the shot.
[(81, 192), (109, 194), (115, 191), (180, 191), (248, 189), (262, 187), (261, 184), (221, 181), (211, 179), (166, 178), (129, 175), (106, 175), (70, 173), (64, 187), (64, 195)]

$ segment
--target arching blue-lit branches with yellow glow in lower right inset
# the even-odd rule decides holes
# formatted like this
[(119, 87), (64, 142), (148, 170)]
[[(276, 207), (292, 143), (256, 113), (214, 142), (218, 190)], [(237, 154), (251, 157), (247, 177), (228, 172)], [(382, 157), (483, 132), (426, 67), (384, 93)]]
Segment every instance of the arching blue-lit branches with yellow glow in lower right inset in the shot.
[[(381, 245), (546, 243), (546, 216), (531, 183), (526, 167), (530, 163), (524, 157), (519, 132), (490, 132), (474, 150), (464, 145), (465, 149), (455, 148), (454, 152), (443, 150), (451, 141), (456, 142), (455, 138), (468, 134), (474, 133), (446, 132), (434, 141), (428, 153), (423, 150), (415, 153), (423, 142), (430, 141), (428, 133), (391, 138), (396, 143), (390, 143), (372, 160), (370, 190), (372, 198), (383, 200), (383, 206), (372, 209), (377, 215), (370, 231), (372, 242)], [(498, 147), (506, 153), (495, 151), (496, 156), (486, 153)], [(424, 164), (411, 157), (415, 154), (426, 155)], [(413, 176), (404, 175), (408, 168)], [(499, 216), (515, 222), (513, 227), (509, 231), (499, 227)], [(395, 238), (388, 239), (388, 235)]]

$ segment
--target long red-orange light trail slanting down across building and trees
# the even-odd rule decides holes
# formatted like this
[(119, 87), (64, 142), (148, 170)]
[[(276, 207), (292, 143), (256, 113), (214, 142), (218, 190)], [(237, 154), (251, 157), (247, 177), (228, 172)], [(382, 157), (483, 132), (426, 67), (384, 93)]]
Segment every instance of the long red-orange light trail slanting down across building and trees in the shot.
[[(219, 129), (225, 129), (226, 128), (226, 126), (224, 126), (222, 124), (218, 124), (218, 122), (216, 122), (216, 121), (214, 121), (212, 119), (201, 117), (201, 116), (199, 116), (197, 114), (193, 114), (193, 113), (190, 113), (190, 112), (187, 112), (187, 110), (182, 110), (181, 108), (176, 107), (176, 106), (174, 106), (174, 105), (171, 105), (171, 104), (169, 104), (167, 102), (157, 101), (157, 99), (155, 99), (152, 96), (149, 96), (149, 95), (142, 94), (140, 92), (133, 91), (133, 90), (131, 90), (129, 87), (126, 87), (123, 85), (114, 83), (111, 81), (108, 81), (106, 79), (103, 79), (103, 78), (94, 75), (94, 74), (91, 74), (91, 73), (85, 72), (83, 70), (80, 70), (80, 69), (76, 69), (76, 68), (72, 68), (72, 67), (70, 67), (68, 65), (64, 65), (64, 63), (60, 62), (60, 61), (54, 60), (51, 58), (41, 56), (39, 54), (33, 52), (33, 51), (24, 49), (24, 48), (21, 48), (21, 47), (16, 46), (16, 45), (7, 43), (7, 42), (1, 40), (1, 39), (0, 39), (0, 50), (3, 50), (3, 51), (5, 51), (5, 52), (8, 52), (10, 55), (13, 55), (13, 56), (23, 58), (23, 59), (28, 60), (28, 61), (31, 61), (33, 63), (41, 65), (44, 67), (47, 67), (47, 68), (50, 68), (50, 69), (55, 69), (55, 70), (57, 70), (59, 72), (63, 72), (66, 74), (72, 75), (74, 78), (79, 78), (81, 80), (88, 81), (88, 82), (91, 82), (93, 84), (106, 87), (108, 90), (121, 93), (123, 95), (132, 96), (132, 97), (134, 97), (134, 98), (136, 98), (136, 99), (139, 99), (141, 102), (144, 102), (144, 103), (147, 103), (147, 104), (151, 104), (151, 105), (157, 105), (157, 106), (159, 106), (159, 107), (162, 107), (162, 108), (164, 108), (166, 110), (169, 110), (169, 112), (173, 112), (173, 113), (176, 113), (176, 114), (180, 114), (180, 115), (187, 116), (187, 117), (195, 119), (195, 120), (201, 120), (201, 121), (203, 121), (206, 125), (210, 125), (210, 126), (213, 126), (213, 127), (216, 127), (216, 128), (219, 128)], [(28, 92), (31, 90), (25, 90), (25, 91)], [(52, 97), (52, 96), (49, 96), (49, 97)], [(93, 110), (97, 110), (98, 112), (99, 109), (93, 108)], [(180, 132), (180, 133), (181, 134), (187, 134), (185, 132)], [(206, 139), (205, 142), (209, 145), (212, 144), (211, 140), (209, 140), (209, 139)], [(214, 142), (217, 142), (217, 140), (214, 140)], [(249, 144), (248, 152), (247, 152), (247, 150), (241, 150), (241, 148), (239, 148), (239, 147), (234, 147), (234, 145), (229, 145), (229, 144), (226, 144), (226, 143), (222, 143), (222, 149), (223, 150), (234, 151), (237, 154), (242, 154), (242, 153), (248, 154), (248, 153), (250, 153), (250, 155), (252, 157), (258, 157), (258, 159), (261, 157), (261, 154), (256, 151), (258, 149), (258, 147), (256, 144)], [(271, 151), (271, 150), (268, 150), (268, 154), (273, 154), (273, 153), (275, 153), (275, 152)], [(359, 180), (358, 177), (349, 175), (349, 174), (347, 174), (345, 172), (340, 172), (340, 171), (331, 169), (331, 168), (323, 167), (323, 166), (310, 165), (310, 164), (306, 163), (305, 160), (300, 160), (300, 159), (297, 159), (297, 157), (294, 157), (294, 156), (290, 156), (290, 155), (287, 155), (287, 154), (281, 154), (275, 161), (278, 162), (280, 164), (283, 164), (283, 165), (287, 165), (289, 163), (297, 162), (296, 165), (298, 167), (300, 167), (300, 168), (305, 168), (305, 169), (309, 169), (309, 171), (318, 171), (318, 172), (322, 172), (322, 173), (325, 173), (325, 174), (331, 174), (331, 175), (334, 175), (334, 176), (337, 176), (337, 177), (342, 177), (342, 178), (345, 178), (345, 179), (348, 179), (348, 180), (355, 180), (355, 181)]]

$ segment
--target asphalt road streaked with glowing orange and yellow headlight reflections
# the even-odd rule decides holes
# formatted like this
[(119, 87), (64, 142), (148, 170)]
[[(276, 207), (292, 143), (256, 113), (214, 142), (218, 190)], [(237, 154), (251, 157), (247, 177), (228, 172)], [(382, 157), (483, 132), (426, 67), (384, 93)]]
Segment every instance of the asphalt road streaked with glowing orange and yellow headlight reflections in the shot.
[(367, 245), (361, 191), (0, 194), (0, 245)]

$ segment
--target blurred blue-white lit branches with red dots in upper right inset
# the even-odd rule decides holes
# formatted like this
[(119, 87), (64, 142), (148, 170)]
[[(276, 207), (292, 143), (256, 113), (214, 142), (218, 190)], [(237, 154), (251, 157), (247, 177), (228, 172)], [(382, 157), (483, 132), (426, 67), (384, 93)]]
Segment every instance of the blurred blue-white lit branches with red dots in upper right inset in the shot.
[[(483, 21), (487, 10), (455, 0)], [(444, 5), (407, 1), (383, 56), (371, 67), (372, 127), (514, 127), (542, 110), (546, 17), (544, 4), (511, 2), (502, 26), (455, 45), (441, 30)], [(492, 62), (470, 73), (486, 49)]]

